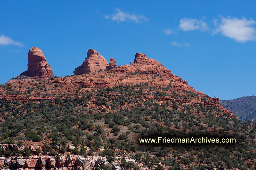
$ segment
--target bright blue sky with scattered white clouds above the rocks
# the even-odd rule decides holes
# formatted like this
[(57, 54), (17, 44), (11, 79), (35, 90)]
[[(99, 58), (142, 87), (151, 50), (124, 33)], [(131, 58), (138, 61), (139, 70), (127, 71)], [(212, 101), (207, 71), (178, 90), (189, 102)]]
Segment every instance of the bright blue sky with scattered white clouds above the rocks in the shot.
[(93, 48), (117, 65), (145, 53), (221, 100), (256, 95), (256, 1), (1, 1), (0, 84), (40, 48), (54, 75)]

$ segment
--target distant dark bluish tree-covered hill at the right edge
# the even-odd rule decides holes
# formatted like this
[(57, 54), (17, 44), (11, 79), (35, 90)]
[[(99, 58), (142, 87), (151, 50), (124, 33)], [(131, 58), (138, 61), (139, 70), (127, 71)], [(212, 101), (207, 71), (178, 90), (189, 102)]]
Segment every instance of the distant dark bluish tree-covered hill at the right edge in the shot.
[(221, 106), (231, 110), (242, 121), (255, 121), (256, 96), (239, 97), (233, 100), (221, 100)]

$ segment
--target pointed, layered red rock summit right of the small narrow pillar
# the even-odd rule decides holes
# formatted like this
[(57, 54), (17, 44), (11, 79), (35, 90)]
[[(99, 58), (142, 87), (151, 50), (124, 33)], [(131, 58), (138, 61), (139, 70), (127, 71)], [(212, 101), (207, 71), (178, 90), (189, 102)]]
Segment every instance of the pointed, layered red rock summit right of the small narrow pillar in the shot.
[(183, 84), (188, 84), (187, 81), (182, 80), (182, 78), (175, 76), (172, 72), (166, 69), (161, 63), (155, 59), (148, 58), (144, 53), (136, 53), (134, 62), (130, 65), (122, 65), (113, 69), (118, 73), (134, 73), (134, 72), (144, 72), (149, 75), (161, 75), (164, 78), (169, 78), (170, 80), (177, 81)]

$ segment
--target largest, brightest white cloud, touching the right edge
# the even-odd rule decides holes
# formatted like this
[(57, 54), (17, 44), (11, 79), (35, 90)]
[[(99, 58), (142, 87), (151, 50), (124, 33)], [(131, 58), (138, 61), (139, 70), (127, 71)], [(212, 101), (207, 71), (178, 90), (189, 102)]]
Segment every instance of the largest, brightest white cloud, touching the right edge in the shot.
[(256, 40), (255, 28), (252, 27), (256, 22), (252, 19), (222, 17), (220, 24), (218, 24), (217, 20), (213, 20), (213, 22), (215, 26), (218, 26), (213, 33), (220, 32), (222, 35), (232, 38), (237, 42)]

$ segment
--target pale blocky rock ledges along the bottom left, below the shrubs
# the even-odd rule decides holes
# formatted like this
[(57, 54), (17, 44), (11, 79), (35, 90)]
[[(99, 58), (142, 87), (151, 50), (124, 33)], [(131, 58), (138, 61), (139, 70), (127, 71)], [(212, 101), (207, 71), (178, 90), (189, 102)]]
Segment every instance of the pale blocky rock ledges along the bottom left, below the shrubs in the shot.
[[(74, 145), (68, 145), (70, 151), (71, 148), (75, 148)], [(15, 152), (17, 150), (24, 149), (24, 146), (18, 146), (15, 144), (0, 144), (0, 149), (4, 150), (4, 152)], [(41, 147), (36, 145), (31, 145), (29, 147), (30, 152), (36, 152), (36, 149), (41, 149)], [(44, 148), (42, 148), (44, 149)], [(100, 151), (104, 151), (104, 147), (100, 147)], [(5, 158), (0, 157), (0, 167), (4, 166), (12, 166), (15, 167), (17, 170), (53, 170), (53, 169), (61, 169), (61, 170), (91, 170), (93, 167), (100, 167), (102, 166), (100, 159), (104, 160), (104, 165), (108, 166), (110, 163), (107, 161), (106, 157), (99, 157), (99, 156), (77, 156), (77, 155), (58, 155), (58, 156), (43, 156), (43, 155), (35, 155), (32, 156), (21, 156), (16, 157), (15, 159), (12, 158)], [(119, 169), (121, 163), (121, 157), (116, 157), (116, 161), (112, 162), (111, 165)], [(125, 159), (126, 162), (135, 162), (134, 159)]]

